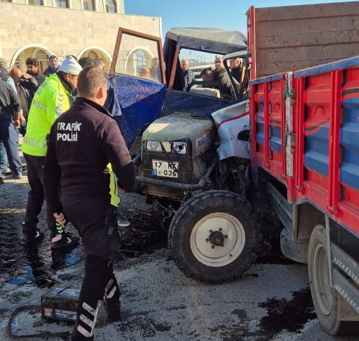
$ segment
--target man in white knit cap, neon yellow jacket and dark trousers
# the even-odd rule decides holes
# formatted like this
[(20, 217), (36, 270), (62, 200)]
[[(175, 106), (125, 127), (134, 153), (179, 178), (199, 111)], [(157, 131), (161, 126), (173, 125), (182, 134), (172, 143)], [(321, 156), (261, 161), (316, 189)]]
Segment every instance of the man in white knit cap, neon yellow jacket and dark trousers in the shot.
[[(44, 201), (43, 164), (47, 150), (46, 137), (55, 120), (73, 104), (72, 93), (77, 88), (81, 70), (80, 64), (73, 57), (67, 57), (58, 71), (44, 80), (31, 103), (26, 135), (21, 144), (31, 187), (22, 222), (24, 242), (40, 241), (43, 238), (43, 232), (37, 228), (37, 223)], [(64, 232), (63, 226), (56, 223), (53, 212), (47, 206), (46, 216), (52, 248), (67, 247), (79, 241), (79, 237)]]

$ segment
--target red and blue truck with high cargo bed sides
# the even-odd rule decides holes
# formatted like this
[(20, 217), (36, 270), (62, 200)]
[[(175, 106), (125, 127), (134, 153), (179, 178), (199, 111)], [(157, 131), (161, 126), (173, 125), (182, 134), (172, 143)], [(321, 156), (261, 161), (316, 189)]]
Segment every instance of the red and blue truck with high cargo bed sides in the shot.
[(359, 2), (248, 13), (252, 169), (330, 334), (359, 321), (358, 21)]

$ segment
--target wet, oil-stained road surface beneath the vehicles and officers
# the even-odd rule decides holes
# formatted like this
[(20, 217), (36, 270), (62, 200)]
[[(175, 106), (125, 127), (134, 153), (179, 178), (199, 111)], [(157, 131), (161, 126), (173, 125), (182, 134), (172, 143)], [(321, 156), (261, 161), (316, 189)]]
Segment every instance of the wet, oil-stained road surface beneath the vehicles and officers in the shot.
[[(0, 187), (0, 341), (10, 340), (7, 328), (15, 335), (13, 340), (66, 340), (53, 334), (69, 333), (71, 323), (42, 319), (40, 298), (58, 285), (80, 287), (81, 245), (51, 250), (44, 212), (39, 223), (46, 233), (44, 240), (21, 244), (28, 185), (26, 178), (4, 179)], [(121, 200), (120, 209), (132, 222), (122, 231), (122, 251), (114, 262), (121, 317), (109, 321), (101, 307), (95, 340), (359, 340), (358, 336), (331, 337), (321, 329), (306, 265), (289, 261), (277, 251), (259, 258), (238, 281), (196, 282), (172, 261), (166, 233), (158, 229), (158, 207), (145, 204), (136, 194), (121, 194)], [(68, 228), (76, 233), (71, 225)], [(41, 336), (29, 338), (36, 334)]]

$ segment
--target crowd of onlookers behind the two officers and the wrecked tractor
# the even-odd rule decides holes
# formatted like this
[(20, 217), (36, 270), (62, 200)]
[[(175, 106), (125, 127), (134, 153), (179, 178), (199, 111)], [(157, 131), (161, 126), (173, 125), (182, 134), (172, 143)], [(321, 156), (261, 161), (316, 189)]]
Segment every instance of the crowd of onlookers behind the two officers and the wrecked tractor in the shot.
[[(76, 59), (76, 57), (72, 56)], [(89, 61), (90, 60), (90, 61)], [(100, 68), (104, 71), (105, 62), (102, 59), (91, 60), (89, 57), (83, 57), (80, 60), (82, 63), (100, 64)], [(12, 175), (15, 179), (20, 179), (22, 176), (22, 166), (20, 165), (19, 157), (19, 134), (25, 136), (27, 117), (30, 105), (36, 90), (40, 87), (42, 82), (59, 68), (59, 61), (57, 56), (51, 55), (49, 57), (49, 66), (43, 72), (40, 72), (39, 61), (35, 58), (28, 58), (26, 60), (26, 72), (22, 72), (18, 67), (13, 67), (7, 70), (7, 62), (0, 58), (0, 183), (3, 183), (1, 175)], [(229, 66), (231, 75), (235, 85), (239, 88), (242, 79), (241, 62), (239, 58), (230, 59)], [(180, 61), (180, 69), (183, 78), (183, 90), (188, 91), (189, 85), (195, 82), (195, 73), (189, 69), (188, 60)], [(159, 58), (152, 59), (151, 67), (142, 66), (139, 70), (139, 76), (161, 81)], [(203, 87), (214, 87), (211, 82), (220, 84), (220, 94), (222, 98), (233, 98), (233, 88), (231, 80), (226, 73), (223, 65), (223, 58), (217, 57), (215, 60), (215, 67), (204, 68), (200, 72), (200, 79), (208, 82)], [(14, 91), (11, 91), (7, 83)], [(193, 85), (193, 84), (192, 84)], [(111, 112), (115, 120), (121, 115), (120, 104), (114, 96), (114, 91), (110, 83), (109, 98), (106, 101), (107, 109)], [(75, 95), (76, 96), (76, 95)], [(35, 103), (36, 105), (36, 103)], [(19, 112), (19, 120), (16, 120), (15, 113)], [(19, 122), (18, 122), (19, 121)], [(15, 124), (15, 128), (13, 129)], [(11, 128), (11, 129), (9, 129)]]

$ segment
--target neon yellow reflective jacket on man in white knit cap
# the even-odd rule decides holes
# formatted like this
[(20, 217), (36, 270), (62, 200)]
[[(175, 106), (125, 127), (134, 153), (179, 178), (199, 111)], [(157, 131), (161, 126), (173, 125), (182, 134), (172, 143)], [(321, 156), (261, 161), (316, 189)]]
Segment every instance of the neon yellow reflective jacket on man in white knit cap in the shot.
[(21, 150), (32, 156), (45, 156), (46, 137), (55, 120), (70, 108), (74, 100), (54, 73), (36, 91), (27, 118), (26, 135)]

